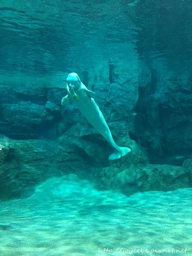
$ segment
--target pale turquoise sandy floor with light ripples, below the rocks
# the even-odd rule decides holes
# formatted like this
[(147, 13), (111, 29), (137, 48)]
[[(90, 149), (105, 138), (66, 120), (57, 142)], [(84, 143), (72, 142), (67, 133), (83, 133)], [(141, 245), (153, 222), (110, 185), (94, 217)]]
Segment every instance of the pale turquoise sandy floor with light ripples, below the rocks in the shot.
[[(52, 178), (30, 198), (0, 203), (0, 255), (190, 256), (191, 198), (192, 189), (128, 198), (75, 175)], [(142, 248), (148, 252), (132, 251)], [(169, 249), (186, 253), (158, 253)]]

